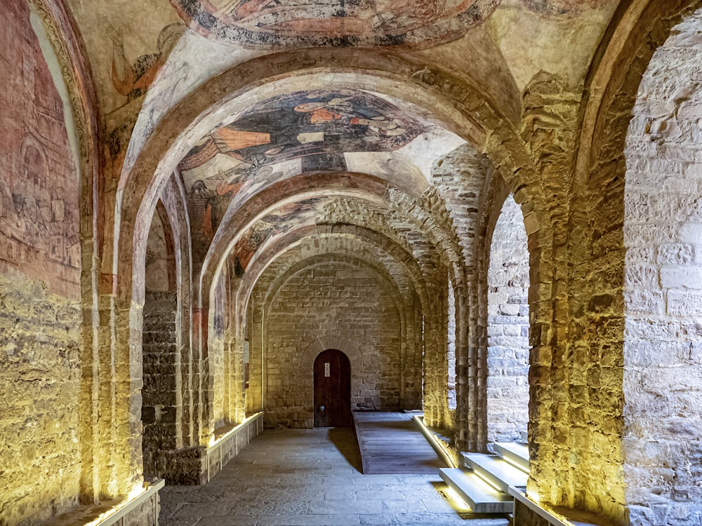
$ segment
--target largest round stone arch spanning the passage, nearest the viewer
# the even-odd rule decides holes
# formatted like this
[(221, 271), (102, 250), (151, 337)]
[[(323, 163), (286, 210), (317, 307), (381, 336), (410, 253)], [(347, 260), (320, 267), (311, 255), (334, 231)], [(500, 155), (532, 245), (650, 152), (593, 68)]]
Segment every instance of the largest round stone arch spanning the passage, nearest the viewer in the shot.
[[(143, 222), (143, 217), (148, 217), (154, 198), (159, 194), (163, 184), (164, 174), (173, 169), (178, 159), (188, 149), (190, 139), (187, 137), (199, 136), (200, 131), (211, 127), (214, 122), (213, 115), (223, 109), (224, 104), (233, 97), (244, 93), (247, 96), (253, 96), (253, 91), (247, 90), (246, 86), (257, 86), (266, 79), (272, 78), (270, 75), (291, 73), (289, 71), (291, 64), (299, 63), (299, 61), (291, 62), (289, 60), (291, 56), (294, 55), (303, 62), (306, 61), (305, 63), (317, 66), (317, 69), (314, 69), (317, 73), (318, 68), (325, 63), (329, 63), (336, 69), (338, 60), (336, 54), (337, 50), (331, 54), (325, 50), (301, 50), (297, 53), (280, 53), (252, 60), (208, 81), (196, 93), (188, 95), (179, 102), (164, 119), (159, 121), (150, 140), (145, 143), (145, 147), (141, 150), (135, 149), (133, 160), (126, 163), (117, 191), (115, 217), (119, 217), (119, 225), (114, 226), (117, 237), (115, 246), (119, 248), (114, 255), (112, 267), (117, 269), (116, 275), (119, 276), (115, 280), (120, 281), (120, 286), (114, 288), (119, 292), (117, 297), (119, 304), (129, 304), (131, 296), (137, 298), (138, 303), (139, 290), (135, 285), (138, 285), (139, 276), (133, 275), (135, 269), (128, 265), (133, 251), (136, 249), (138, 252), (143, 245), (143, 238), (138, 234), (137, 225)], [(351, 71), (371, 79), (379, 91), (390, 95), (398, 93), (402, 100), (409, 100), (420, 107), (425, 106), (430, 100), (434, 104), (432, 109), (439, 120), (451, 123), (449, 127), (457, 130), (459, 135), (468, 137), (475, 144), (481, 144), (486, 151), (490, 152), (491, 157), (494, 157), (496, 168), (501, 173), (505, 173), (510, 185), (519, 191), (519, 195), (522, 196), (520, 200), (523, 200), (527, 194), (533, 193), (535, 202), (538, 202), (541, 198), (541, 190), (537, 177), (531, 170), (532, 162), (527, 149), (514, 133), (512, 126), (491, 107), (488, 97), (475, 92), (469, 83), (446, 72), (428, 67), (418, 69), (416, 65), (406, 63), (397, 57), (378, 58), (362, 55), (363, 53), (354, 55), (353, 62), (358, 65), (357, 69), (338, 69), (334, 79), (342, 81), (343, 74)], [(309, 76), (310, 71), (312, 70), (307, 69), (292, 73), (297, 76)], [(265, 74), (262, 76), (263, 72)], [(328, 81), (329, 79), (326, 79), (325, 82)], [(402, 86), (402, 93), (399, 93), (399, 86)], [(223, 97), (222, 94), (227, 95)], [(237, 102), (244, 104), (245, 97), (239, 97)], [(456, 112), (456, 109), (459, 111)], [(484, 135), (482, 129), (487, 128), (494, 130), (494, 133), (489, 136)], [(183, 130), (183, 132), (178, 133), (177, 130)], [(537, 210), (545, 211), (548, 207), (544, 205)], [(529, 210), (529, 213), (533, 211)], [(541, 214), (541, 212), (538, 213)], [(548, 221), (541, 223), (548, 224)], [(196, 353), (206, 355), (205, 325), (208, 316), (206, 306), (208, 300), (202, 288), (199, 288), (194, 299), (197, 308), (193, 316), (193, 345), (194, 349), (197, 349)], [(124, 349), (127, 344), (127, 342), (118, 342), (117, 346)], [(467, 368), (465, 375), (469, 375)], [(204, 402), (203, 410), (207, 407), (208, 403)], [(204, 415), (204, 419), (208, 419), (207, 415)], [(206, 430), (201, 430), (199, 434), (201, 441), (207, 441), (211, 435)]]

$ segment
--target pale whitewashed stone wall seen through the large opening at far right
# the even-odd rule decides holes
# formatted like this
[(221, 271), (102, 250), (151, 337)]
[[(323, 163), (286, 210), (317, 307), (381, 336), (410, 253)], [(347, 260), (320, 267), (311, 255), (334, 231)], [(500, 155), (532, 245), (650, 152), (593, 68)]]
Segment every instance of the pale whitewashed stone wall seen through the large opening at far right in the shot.
[(644, 74), (625, 178), (624, 437), (630, 520), (702, 520), (702, 13)]

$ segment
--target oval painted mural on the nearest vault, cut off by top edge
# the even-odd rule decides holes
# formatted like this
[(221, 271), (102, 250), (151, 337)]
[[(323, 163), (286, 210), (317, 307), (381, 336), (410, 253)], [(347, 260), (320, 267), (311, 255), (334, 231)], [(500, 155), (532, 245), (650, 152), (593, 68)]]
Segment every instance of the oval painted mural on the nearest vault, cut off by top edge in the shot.
[(199, 33), (257, 48), (428, 46), (456, 39), (499, 0), (171, 0)]

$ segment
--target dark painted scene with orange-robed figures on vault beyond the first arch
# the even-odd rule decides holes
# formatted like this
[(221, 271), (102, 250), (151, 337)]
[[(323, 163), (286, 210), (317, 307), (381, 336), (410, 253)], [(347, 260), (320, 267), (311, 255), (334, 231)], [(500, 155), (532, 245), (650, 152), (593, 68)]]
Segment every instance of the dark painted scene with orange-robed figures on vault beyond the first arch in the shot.
[(217, 154), (265, 166), (303, 159), (310, 170), (343, 170), (345, 151), (392, 151), (423, 128), (394, 105), (362, 91), (303, 91), (256, 104), (213, 130), (180, 162), (181, 170)]

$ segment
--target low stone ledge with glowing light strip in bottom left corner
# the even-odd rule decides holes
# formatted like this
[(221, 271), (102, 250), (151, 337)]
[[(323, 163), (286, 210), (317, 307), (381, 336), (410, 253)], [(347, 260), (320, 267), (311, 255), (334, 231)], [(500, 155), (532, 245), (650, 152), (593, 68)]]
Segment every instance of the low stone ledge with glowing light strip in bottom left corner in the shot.
[(101, 504), (78, 506), (44, 522), (44, 526), (112, 526), (159, 523), (159, 490), (164, 480), (144, 483), (144, 490), (131, 498), (111, 499)]

